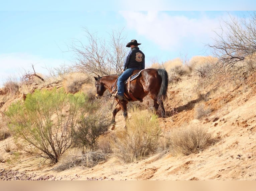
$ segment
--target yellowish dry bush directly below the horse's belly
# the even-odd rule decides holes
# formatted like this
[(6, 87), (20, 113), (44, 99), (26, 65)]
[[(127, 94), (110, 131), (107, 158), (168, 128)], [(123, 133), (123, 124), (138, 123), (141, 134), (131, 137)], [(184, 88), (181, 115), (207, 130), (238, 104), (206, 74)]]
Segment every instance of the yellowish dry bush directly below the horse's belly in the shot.
[(158, 147), (161, 129), (157, 116), (138, 110), (126, 121), (126, 129), (116, 131), (112, 150), (125, 163), (135, 162), (153, 154)]

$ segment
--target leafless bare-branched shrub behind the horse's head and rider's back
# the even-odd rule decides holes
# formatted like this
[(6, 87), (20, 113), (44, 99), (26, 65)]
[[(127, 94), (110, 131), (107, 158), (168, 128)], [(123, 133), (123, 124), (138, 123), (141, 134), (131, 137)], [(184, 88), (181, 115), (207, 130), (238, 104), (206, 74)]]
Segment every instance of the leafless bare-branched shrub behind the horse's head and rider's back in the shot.
[(84, 31), (88, 44), (76, 40), (71, 46), (76, 59), (74, 67), (82, 73), (100, 76), (120, 74), (127, 51), (122, 31), (112, 31), (107, 43), (87, 28)]

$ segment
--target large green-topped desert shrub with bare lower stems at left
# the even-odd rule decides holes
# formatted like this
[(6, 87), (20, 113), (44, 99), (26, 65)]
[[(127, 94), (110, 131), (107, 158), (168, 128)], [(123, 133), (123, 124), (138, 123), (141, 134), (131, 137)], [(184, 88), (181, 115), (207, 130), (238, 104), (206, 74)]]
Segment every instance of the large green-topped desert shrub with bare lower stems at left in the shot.
[(39, 91), (27, 94), (24, 103), (13, 103), (6, 112), (9, 129), (14, 136), (32, 144), (39, 152), (33, 154), (51, 159), (59, 157), (72, 145), (74, 128), (85, 107), (84, 94), (66, 94), (57, 91)]

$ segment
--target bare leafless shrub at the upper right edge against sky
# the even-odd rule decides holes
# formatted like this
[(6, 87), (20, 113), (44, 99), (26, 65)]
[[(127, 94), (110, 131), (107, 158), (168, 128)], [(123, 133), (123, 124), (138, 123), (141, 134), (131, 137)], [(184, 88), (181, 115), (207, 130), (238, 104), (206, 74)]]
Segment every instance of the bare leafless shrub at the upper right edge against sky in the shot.
[[(236, 63), (250, 57), (255, 60), (255, 38), (256, 38), (256, 13), (249, 18), (229, 15), (229, 21), (223, 21), (220, 25), (220, 32), (216, 32), (217, 37), (213, 45), (209, 44), (214, 54), (219, 58), (222, 66), (231, 69), (236, 67)], [(240, 68), (238, 68), (240, 69)]]

